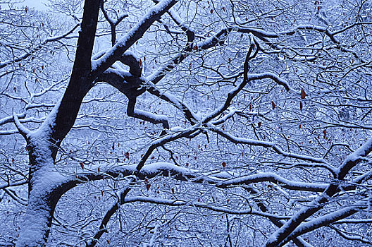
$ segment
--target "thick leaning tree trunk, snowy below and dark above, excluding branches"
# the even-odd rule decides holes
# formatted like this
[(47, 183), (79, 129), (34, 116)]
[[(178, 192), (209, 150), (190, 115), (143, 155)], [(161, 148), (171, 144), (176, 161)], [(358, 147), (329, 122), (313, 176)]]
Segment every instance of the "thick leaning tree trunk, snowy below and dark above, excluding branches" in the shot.
[(45, 246), (59, 198), (63, 176), (54, 171), (58, 146), (75, 123), (94, 78), (89, 77), (101, 0), (85, 0), (73, 72), (61, 102), (35, 131), (24, 135), (30, 157), (29, 200), (16, 247)]

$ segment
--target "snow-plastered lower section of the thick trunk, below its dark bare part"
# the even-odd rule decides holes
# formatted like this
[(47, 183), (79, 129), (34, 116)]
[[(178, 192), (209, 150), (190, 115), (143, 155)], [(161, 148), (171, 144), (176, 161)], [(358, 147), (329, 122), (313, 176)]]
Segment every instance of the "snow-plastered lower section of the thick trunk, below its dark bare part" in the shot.
[(50, 141), (55, 108), (37, 131), (27, 133), (30, 158), (29, 199), (17, 247), (45, 246), (56, 204), (62, 193), (63, 176), (54, 171), (54, 145)]

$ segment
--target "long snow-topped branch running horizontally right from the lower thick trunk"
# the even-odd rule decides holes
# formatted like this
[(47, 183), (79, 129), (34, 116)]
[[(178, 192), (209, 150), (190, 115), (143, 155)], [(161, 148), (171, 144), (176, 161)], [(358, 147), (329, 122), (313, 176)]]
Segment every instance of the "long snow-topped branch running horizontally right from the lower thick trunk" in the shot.
[[(85, 172), (77, 174), (61, 183), (59, 187), (70, 188), (75, 187), (79, 183), (87, 181), (97, 181), (107, 178), (116, 178), (118, 176), (132, 176), (137, 171), (137, 164), (121, 165), (112, 169), (103, 169), (101, 172)], [(94, 167), (91, 170), (96, 170)], [(273, 182), (280, 183), (280, 186), (294, 191), (310, 191), (319, 192), (327, 188), (325, 183), (303, 183), (290, 181), (281, 176), (272, 173), (253, 174), (232, 178), (228, 173), (221, 171), (198, 171), (185, 167), (179, 167), (175, 164), (167, 162), (158, 162), (145, 164), (142, 169), (136, 174), (138, 179), (151, 179), (155, 176), (171, 176), (175, 180), (190, 181), (192, 183), (208, 183), (218, 188), (229, 188), (230, 186), (248, 185), (252, 183)]]

